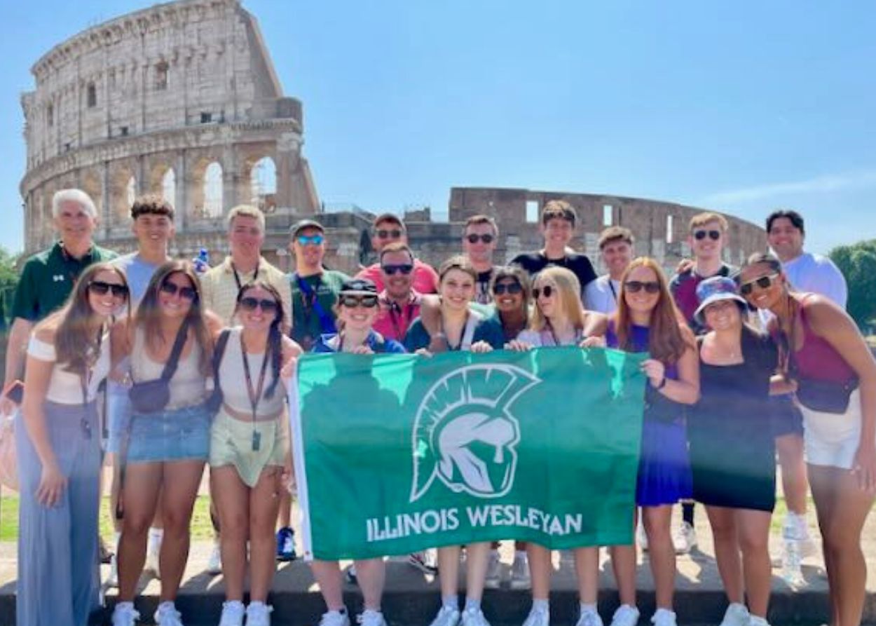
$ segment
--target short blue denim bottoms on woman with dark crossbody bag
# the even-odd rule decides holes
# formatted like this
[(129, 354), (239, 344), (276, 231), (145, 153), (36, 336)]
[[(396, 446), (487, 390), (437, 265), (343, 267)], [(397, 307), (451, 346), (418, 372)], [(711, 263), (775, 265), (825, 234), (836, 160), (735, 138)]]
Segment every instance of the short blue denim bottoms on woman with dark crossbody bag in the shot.
[(133, 413), (127, 463), (206, 461), (210, 414), (203, 404), (158, 413)]

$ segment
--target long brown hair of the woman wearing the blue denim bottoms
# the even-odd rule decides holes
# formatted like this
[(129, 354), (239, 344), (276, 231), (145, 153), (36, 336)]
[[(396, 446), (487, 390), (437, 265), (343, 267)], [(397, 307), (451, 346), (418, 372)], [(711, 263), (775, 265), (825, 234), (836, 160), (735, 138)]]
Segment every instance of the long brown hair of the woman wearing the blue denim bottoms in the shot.
[(204, 319), (204, 309), (201, 299), (201, 281), (194, 273), (192, 264), (187, 260), (169, 260), (162, 263), (146, 287), (143, 300), (137, 308), (134, 324), (142, 328), (146, 336), (146, 344), (152, 351), (158, 351), (166, 342), (161, 334), (161, 307), (159, 306), (159, 291), (171, 274), (183, 274), (192, 283), (194, 288), (194, 300), (189, 307), (184, 323), (188, 324), (189, 330), (194, 332), (194, 339), (201, 348), (201, 372), (210, 373), (210, 358), (213, 352), (213, 341), (207, 330), (207, 322)]

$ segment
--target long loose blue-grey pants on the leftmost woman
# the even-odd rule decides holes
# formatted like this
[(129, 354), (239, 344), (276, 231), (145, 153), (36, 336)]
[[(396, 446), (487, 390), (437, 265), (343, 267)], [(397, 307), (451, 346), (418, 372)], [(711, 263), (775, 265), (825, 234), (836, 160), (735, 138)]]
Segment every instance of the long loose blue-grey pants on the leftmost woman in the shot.
[(18, 626), (84, 626), (98, 604), (100, 430), (95, 403), (45, 402), (46, 427), (67, 488), (45, 507), (35, 493), (42, 464), (16, 424), (18, 480)]

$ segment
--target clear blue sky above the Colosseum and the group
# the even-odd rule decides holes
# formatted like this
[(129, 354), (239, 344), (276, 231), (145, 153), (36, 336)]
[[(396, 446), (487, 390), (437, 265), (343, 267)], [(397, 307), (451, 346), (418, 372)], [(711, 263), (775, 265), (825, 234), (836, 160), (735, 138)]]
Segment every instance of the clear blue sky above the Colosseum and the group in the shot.
[[(0, 0), (0, 245), (23, 246), (32, 63), (150, 4)], [(324, 202), (443, 215), (452, 186), (568, 190), (758, 224), (795, 208), (815, 252), (876, 238), (872, 1), (542, 4), (244, 1)]]

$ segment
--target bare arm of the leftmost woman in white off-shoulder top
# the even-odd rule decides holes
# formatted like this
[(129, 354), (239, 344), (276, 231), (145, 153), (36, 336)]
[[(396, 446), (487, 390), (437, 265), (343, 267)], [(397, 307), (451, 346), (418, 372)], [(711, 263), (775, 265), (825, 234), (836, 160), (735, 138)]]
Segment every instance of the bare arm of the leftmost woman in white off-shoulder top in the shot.
[[(54, 344), (54, 330), (40, 328), (36, 337), (47, 344)], [(37, 500), (46, 507), (54, 506), (67, 486), (67, 478), (61, 473), (49, 437), (43, 402), (52, 380), (53, 360), (37, 359), (28, 355), (25, 373), (25, 398), (21, 403), (22, 418), (34, 450), (42, 466), (42, 477), (37, 487)]]

